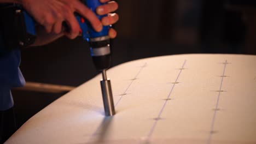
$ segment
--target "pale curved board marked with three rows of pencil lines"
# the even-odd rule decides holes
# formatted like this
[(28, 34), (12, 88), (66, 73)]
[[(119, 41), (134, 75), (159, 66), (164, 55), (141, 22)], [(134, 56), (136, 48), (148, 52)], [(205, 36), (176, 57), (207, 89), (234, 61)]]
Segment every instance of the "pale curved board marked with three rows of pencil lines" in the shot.
[(255, 62), (249, 55), (174, 55), (124, 63), (107, 71), (115, 116), (104, 117), (98, 75), (7, 143), (256, 143)]

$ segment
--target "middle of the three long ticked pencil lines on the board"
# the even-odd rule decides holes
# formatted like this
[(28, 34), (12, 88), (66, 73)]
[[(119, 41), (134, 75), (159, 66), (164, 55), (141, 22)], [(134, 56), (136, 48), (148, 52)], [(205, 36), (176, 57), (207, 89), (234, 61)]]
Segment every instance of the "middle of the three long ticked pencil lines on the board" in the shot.
[(161, 119), (162, 112), (164, 111), (167, 102), (168, 102), (169, 100), (171, 100), (170, 97), (171, 97), (172, 91), (173, 91), (173, 89), (174, 89), (174, 87), (175, 87), (175, 85), (176, 85), (176, 82), (177, 82), (178, 79), (179, 79), (179, 76), (181, 75), (182, 71), (184, 70), (184, 66), (185, 66), (186, 62), (187, 62), (187, 60), (185, 60), (185, 61), (183, 62), (182, 68), (179, 70), (179, 74), (178, 74), (178, 76), (177, 76), (177, 78), (176, 78), (176, 80), (175, 80), (175, 82), (174, 82), (174, 84), (173, 84), (173, 86), (172, 86), (172, 88), (171, 88), (171, 91), (169, 92), (169, 94), (168, 94), (168, 96), (167, 96), (167, 98), (166, 98), (166, 100), (165, 100), (165, 102), (164, 102), (164, 105), (162, 105), (162, 108), (161, 108), (161, 110), (160, 110), (160, 112), (159, 112), (159, 114), (158, 114), (158, 117), (155, 118), (155, 122), (153, 123), (152, 128), (150, 129), (150, 131), (149, 131), (149, 133), (148, 133), (146, 139), (143, 140), (143, 142), (149, 143), (150, 138), (151, 138), (151, 136), (153, 135), (153, 132), (154, 132), (154, 130), (155, 130), (155, 127), (156, 127), (156, 125), (158, 124), (159, 120)]

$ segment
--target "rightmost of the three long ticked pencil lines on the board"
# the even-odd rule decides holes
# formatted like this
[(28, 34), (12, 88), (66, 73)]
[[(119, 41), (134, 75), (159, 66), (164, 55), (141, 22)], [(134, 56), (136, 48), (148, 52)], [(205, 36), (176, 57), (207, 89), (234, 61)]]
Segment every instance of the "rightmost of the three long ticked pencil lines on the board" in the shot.
[(207, 144), (211, 144), (212, 135), (217, 133), (217, 131), (214, 130), (214, 124), (215, 124), (215, 121), (216, 121), (217, 112), (219, 111), (218, 109), (219, 109), (220, 94), (222, 92), (225, 92), (225, 91), (222, 90), (222, 85), (223, 85), (223, 80), (225, 78), (224, 75), (225, 75), (226, 65), (230, 64), (230, 63), (228, 63), (228, 61), (226, 60), (223, 64), (224, 64), (224, 69), (223, 69), (223, 73), (222, 73), (222, 80), (220, 81), (219, 90), (215, 91), (215, 92), (218, 92), (218, 98), (217, 98), (216, 106), (214, 108), (215, 110), (214, 110), (214, 114), (213, 114), (213, 118), (212, 118), (210, 134), (209, 134), (208, 140), (206, 142)]

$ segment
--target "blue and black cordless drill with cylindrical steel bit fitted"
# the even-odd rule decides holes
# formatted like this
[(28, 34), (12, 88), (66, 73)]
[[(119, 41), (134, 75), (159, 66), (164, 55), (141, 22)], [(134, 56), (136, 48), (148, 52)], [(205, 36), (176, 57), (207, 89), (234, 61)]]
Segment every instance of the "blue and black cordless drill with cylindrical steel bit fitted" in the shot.
[[(101, 3), (100, 0), (84, 0), (82, 2), (94, 11), (95, 14), (96, 8), (104, 4)], [(36, 39), (36, 22), (25, 10), (17, 9), (15, 13), (24, 19), (23, 29), (26, 29), (25, 34), (22, 34), (22, 37), (18, 39), (19, 45), (28, 46), (34, 43), (34, 40)], [(104, 16), (106, 15), (97, 15), (100, 20)], [(97, 70), (102, 72), (103, 80), (101, 80), (101, 90), (105, 115), (115, 115), (112, 88), (110, 80), (107, 79), (106, 75), (106, 70), (111, 64), (110, 39), (108, 36), (109, 26), (103, 26), (103, 30), (101, 32), (96, 32), (84, 17), (76, 14), (76, 18), (79, 22), (83, 39), (89, 42), (91, 56), (95, 67)]]

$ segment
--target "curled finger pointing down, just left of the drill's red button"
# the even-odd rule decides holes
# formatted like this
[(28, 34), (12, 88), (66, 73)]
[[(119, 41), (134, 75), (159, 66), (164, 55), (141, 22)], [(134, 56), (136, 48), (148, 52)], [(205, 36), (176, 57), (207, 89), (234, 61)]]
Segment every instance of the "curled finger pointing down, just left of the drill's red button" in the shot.
[(65, 35), (70, 39), (76, 38), (79, 34), (80, 26), (74, 14), (70, 14), (66, 18), (66, 23), (68, 25), (69, 32), (65, 32)]

